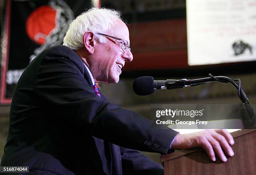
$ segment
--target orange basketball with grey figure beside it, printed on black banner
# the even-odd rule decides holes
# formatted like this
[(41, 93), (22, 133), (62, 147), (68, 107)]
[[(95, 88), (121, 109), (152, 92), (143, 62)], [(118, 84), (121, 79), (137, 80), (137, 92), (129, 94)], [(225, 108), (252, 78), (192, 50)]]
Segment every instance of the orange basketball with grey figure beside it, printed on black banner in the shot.
[(32, 61), (46, 48), (63, 42), (74, 13), (64, 0), (49, 0), (48, 5), (36, 8), (26, 20), (26, 33), (31, 41), (39, 44), (29, 57)]

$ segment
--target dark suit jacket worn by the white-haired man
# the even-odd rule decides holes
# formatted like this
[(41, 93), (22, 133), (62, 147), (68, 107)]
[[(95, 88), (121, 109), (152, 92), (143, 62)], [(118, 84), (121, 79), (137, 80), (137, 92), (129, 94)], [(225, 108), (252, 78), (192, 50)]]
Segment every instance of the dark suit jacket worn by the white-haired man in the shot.
[(161, 165), (137, 150), (166, 154), (177, 132), (154, 129), (100, 94), (77, 53), (66, 46), (43, 51), (15, 88), (1, 165), (29, 166), (31, 174), (161, 174)]

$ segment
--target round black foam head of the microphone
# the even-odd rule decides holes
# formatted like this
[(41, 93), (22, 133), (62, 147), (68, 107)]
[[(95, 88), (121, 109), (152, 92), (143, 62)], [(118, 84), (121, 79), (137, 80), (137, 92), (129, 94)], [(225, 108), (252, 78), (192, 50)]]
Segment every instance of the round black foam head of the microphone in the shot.
[(149, 95), (153, 94), (156, 90), (154, 89), (154, 78), (152, 76), (141, 76), (133, 81), (133, 91), (137, 95)]

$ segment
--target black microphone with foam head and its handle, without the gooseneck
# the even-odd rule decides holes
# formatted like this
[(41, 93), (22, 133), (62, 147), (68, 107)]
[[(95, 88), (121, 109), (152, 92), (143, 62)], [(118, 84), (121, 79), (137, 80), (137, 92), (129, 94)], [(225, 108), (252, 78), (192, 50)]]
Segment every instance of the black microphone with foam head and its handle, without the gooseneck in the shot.
[(157, 89), (178, 89), (187, 87), (189, 80), (173, 80), (156, 81), (152, 76), (141, 76), (133, 81), (133, 91), (137, 95), (153, 94)]

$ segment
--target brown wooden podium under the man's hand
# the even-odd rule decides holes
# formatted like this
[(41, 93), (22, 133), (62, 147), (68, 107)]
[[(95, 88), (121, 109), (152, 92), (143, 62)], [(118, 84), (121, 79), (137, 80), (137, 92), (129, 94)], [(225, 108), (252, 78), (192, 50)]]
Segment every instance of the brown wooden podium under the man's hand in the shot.
[(164, 175), (256, 175), (256, 129), (231, 133), (235, 155), (212, 162), (202, 148), (178, 150), (163, 155)]

